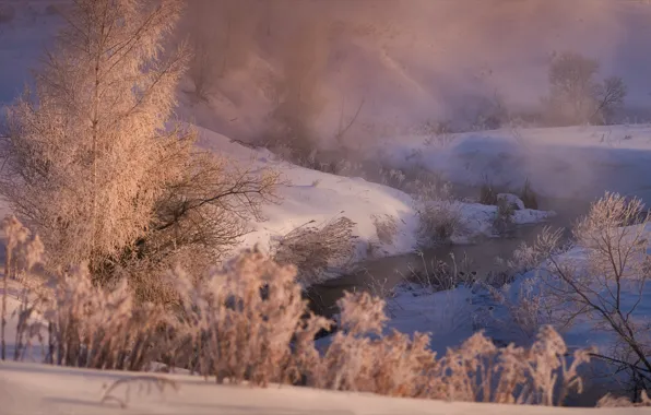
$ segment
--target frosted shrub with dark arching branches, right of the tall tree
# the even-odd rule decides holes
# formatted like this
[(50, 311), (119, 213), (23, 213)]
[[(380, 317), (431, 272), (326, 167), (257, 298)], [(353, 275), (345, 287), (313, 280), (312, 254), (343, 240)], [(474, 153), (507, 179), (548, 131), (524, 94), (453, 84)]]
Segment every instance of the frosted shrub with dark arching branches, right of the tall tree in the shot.
[(157, 276), (175, 266), (203, 275), (227, 258), (249, 232), (248, 221), (263, 221), (262, 204), (277, 202), (280, 180), (275, 170), (241, 168), (196, 151), (156, 203), (147, 232), (105, 269), (107, 280), (128, 278), (139, 300), (173, 301), (173, 290)]

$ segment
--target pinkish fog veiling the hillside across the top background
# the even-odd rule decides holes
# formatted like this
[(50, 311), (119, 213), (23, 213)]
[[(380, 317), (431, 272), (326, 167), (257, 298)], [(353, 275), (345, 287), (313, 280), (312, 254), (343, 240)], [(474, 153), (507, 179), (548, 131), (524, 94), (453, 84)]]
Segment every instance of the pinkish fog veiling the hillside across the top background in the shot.
[(335, 134), (360, 105), (356, 135), (433, 120), (472, 124), (496, 97), (510, 111), (534, 110), (547, 88), (549, 60), (566, 50), (599, 59), (600, 78), (623, 76), (631, 108), (651, 92), (651, 14), (640, 1), (189, 4), (181, 36), (201, 33), (214, 59), (210, 109), (193, 116), (245, 139), (263, 131), (268, 114), (292, 94), (311, 109), (320, 138)]

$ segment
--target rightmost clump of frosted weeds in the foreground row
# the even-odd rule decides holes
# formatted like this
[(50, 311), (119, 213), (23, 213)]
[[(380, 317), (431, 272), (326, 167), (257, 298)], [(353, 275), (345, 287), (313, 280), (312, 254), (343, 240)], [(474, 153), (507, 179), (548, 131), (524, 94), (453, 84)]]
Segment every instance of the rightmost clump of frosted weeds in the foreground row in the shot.
[(445, 398), (455, 401), (563, 405), (571, 389), (582, 391), (577, 369), (590, 360), (588, 349), (577, 351), (568, 367), (567, 353), (549, 325), (538, 331), (529, 349), (512, 344), (498, 348), (478, 333), (449, 351), (437, 375)]

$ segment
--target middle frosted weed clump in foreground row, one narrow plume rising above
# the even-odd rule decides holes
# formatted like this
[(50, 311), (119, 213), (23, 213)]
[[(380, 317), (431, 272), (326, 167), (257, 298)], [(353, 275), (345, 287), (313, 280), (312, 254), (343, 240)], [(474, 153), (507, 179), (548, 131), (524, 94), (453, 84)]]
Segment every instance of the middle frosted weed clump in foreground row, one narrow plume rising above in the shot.
[(427, 396), (426, 386), (437, 361), (429, 337), (392, 332), (381, 336), (387, 316), (384, 301), (368, 293), (346, 293), (340, 300), (341, 327), (308, 386), (375, 392), (392, 396)]

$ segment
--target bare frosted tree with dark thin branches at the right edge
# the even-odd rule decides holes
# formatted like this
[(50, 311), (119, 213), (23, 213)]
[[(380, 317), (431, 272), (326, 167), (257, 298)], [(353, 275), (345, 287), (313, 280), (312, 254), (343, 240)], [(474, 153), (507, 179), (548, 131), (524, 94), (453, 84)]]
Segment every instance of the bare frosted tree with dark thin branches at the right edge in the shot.
[(564, 310), (560, 322), (583, 316), (614, 334), (615, 345), (597, 356), (628, 370), (637, 392), (651, 389), (651, 320), (640, 313), (651, 277), (646, 236), (651, 217), (642, 206), (609, 193), (594, 203), (573, 229), (585, 261), (557, 254), (559, 233), (548, 233), (536, 246), (546, 261), (546, 290)]

